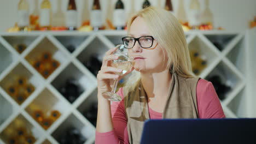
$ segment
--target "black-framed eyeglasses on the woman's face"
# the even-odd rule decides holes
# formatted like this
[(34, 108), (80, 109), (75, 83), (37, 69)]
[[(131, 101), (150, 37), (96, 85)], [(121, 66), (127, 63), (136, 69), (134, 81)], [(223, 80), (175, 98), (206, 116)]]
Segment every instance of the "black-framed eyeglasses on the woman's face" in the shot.
[(152, 47), (154, 42), (154, 38), (152, 36), (142, 36), (139, 38), (124, 37), (122, 40), (126, 49), (131, 49), (135, 45), (136, 41), (138, 41), (139, 45), (144, 49)]

